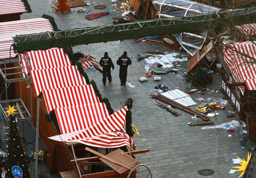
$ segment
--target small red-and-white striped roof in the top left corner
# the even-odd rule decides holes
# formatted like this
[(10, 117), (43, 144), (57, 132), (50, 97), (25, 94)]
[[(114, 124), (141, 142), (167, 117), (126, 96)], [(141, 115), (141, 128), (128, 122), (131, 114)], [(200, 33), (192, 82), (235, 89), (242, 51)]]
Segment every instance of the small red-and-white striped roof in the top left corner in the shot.
[(28, 12), (22, 0), (1, 0), (0, 15)]

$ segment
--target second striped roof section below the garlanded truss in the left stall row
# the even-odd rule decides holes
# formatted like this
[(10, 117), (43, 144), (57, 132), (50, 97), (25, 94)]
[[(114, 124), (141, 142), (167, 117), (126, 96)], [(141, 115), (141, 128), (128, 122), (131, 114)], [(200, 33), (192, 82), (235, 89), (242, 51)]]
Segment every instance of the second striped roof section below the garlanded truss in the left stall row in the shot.
[(42, 90), (86, 85), (76, 66), (31, 71), (31, 78), (37, 96)]

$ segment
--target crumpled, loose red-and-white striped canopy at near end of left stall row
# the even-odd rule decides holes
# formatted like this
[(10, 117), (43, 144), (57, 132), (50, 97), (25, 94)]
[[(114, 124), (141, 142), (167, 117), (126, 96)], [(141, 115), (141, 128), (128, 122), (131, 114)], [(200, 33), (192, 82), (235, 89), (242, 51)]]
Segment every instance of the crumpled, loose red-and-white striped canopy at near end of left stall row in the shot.
[(101, 148), (118, 148), (129, 146), (129, 149), (135, 150), (136, 145), (133, 139), (125, 131), (126, 110), (123, 107), (119, 111), (106, 117), (101, 122), (93, 126), (70, 132), (62, 135), (49, 137), (52, 140), (63, 142), (78, 142), (81, 144), (96, 146)]

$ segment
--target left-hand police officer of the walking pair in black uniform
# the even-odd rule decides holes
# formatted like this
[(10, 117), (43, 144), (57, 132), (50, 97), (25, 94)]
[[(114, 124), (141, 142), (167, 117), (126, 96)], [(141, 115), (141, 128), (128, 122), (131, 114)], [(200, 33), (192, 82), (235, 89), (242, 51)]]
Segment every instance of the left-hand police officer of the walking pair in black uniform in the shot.
[(108, 57), (107, 52), (105, 52), (104, 57), (101, 58), (100, 65), (101, 65), (101, 67), (103, 66), (102, 82), (103, 82), (103, 85), (106, 85), (107, 76), (108, 76), (108, 82), (112, 81), (111, 67), (112, 67), (112, 70), (114, 69), (113, 62), (112, 62), (111, 58)]

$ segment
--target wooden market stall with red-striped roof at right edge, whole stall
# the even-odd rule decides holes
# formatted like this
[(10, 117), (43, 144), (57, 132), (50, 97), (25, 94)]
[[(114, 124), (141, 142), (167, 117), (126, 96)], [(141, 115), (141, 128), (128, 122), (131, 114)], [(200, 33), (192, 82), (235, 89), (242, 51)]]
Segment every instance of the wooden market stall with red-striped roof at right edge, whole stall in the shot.
[(250, 139), (256, 139), (255, 58), (256, 45), (248, 41), (228, 43), (222, 61), (222, 89), (239, 119), (246, 120)]

